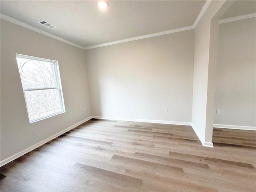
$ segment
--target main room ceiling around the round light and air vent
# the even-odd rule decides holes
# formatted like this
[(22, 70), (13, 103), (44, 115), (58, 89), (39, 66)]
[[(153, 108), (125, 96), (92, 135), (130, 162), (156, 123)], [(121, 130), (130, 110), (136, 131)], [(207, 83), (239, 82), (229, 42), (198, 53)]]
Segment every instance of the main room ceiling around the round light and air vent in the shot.
[[(96, 1), (1, 0), (1, 14), (88, 47), (192, 26), (205, 0), (107, 2), (102, 11)], [(40, 20), (58, 28), (46, 28)]]

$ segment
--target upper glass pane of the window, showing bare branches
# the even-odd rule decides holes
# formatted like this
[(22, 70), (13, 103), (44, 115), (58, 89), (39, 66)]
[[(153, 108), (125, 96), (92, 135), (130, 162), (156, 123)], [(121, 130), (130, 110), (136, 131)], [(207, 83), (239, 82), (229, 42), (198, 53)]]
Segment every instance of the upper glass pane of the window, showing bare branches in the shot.
[(57, 87), (53, 62), (17, 57), (23, 89)]

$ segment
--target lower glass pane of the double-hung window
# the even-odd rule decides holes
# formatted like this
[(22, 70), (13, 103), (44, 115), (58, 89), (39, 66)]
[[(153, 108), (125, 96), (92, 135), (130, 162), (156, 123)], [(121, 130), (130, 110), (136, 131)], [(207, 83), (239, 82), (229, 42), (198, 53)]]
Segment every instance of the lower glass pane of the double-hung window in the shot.
[(30, 120), (61, 112), (58, 89), (25, 91)]

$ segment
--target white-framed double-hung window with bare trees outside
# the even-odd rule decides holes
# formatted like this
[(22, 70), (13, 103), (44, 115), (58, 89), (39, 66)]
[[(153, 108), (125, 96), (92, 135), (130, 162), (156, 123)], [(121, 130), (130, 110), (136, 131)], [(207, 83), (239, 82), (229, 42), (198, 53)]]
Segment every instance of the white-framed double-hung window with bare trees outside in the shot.
[(58, 61), (16, 54), (29, 122), (65, 112)]

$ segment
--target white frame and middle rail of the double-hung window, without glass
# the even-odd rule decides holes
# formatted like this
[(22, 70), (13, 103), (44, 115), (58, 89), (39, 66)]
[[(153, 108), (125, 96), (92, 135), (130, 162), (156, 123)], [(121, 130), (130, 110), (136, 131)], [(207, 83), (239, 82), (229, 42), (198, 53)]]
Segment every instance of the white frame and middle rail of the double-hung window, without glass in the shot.
[[(28, 55), (22, 55), (22, 54), (17, 54), (16, 53), (16, 58), (25, 58), (25, 59), (31, 59), (31, 60), (38, 60), (38, 61), (45, 61), (45, 62), (51, 62), (54, 64), (54, 72), (55, 72), (55, 76), (56, 76), (56, 87), (45, 87), (45, 88), (29, 88), (29, 89), (23, 89), (22, 86), (22, 90), (23, 90), (23, 94), (24, 94), (24, 99), (25, 99), (25, 103), (26, 103), (26, 108), (27, 108), (27, 113), (28, 113), (28, 120), (29, 123), (34, 123), (52, 116), (56, 116), (58, 114), (62, 114), (64, 112), (66, 112), (65, 110), (65, 105), (64, 105), (64, 98), (63, 98), (63, 92), (62, 92), (62, 85), (61, 85), (61, 80), (60, 80), (60, 69), (59, 69), (59, 64), (58, 61), (56, 60), (50, 60), (50, 59), (44, 59), (44, 58), (39, 58), (39, 57), (34, 57), (34, 56), (28, 56)], [(21, 80), (21, 79), (20, 79)], [(30, 115), (29, 115), (29, 111), (28, 111), (28, 104), (26, 102), (26, 95), (25, 92), (26, 91), (37, 91), (37, 90), (50, 90), (50, 89), (57, 89), (58, 90), (58, 95), (60, 98), (60, 106), (61, 106), (61, 111), (56, 112), (56, 113), (52, 113), (52, 114), (48, 114), (46, 116), (42, 116), (36, 119), (30, 119)]]

